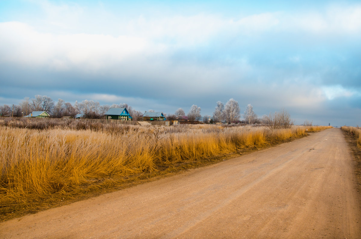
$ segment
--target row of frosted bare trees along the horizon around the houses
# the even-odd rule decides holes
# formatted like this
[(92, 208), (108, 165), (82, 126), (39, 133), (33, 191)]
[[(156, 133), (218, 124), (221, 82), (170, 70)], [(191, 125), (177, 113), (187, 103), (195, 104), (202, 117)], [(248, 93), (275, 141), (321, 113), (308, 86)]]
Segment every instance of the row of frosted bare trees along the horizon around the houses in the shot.
[[(62, 99), (58, 99), (55, 103), (50, 97), (44, 95), (35, 95), (33, 99), (25, 97), (18, 105), (0, 106), (0, 116), (14, 115), (14, 116), (26, 116), (32, 111), (46, 111), (54, 118), (61, 118), (63, 116), (75, 116), (76, 114), (83, 114), (85, 118), (101, 118), (104, 116), (109, 108), (127, 108), (129, 114), (133, 120), (140, 120), (143, 113), (133, 109), (126, 103), (113, 104), (113, 105), (100, 105), (98, 101), (83, 100), (81, 103), (75, 101), (74, 105), (69, 102), (65, 102)], [(149, 109), (148, 112), (154, 112)], [(165, 114), (167, 119), (173, 120), (180, 116), (187, 116), (187, 120), (191, 122), (201, 121), (207, 123), (264, 123), (271, 125), (271, 129), (277, 129), (282, 127), (289, 127), (293, 125), (293, 121), (290, 114), (286, 110), (280, 112), (270, 113), (269, 115), (263, 115), (258, 118), (257, 114), (253, 111), (253, 106), (248, 104), (244, 111), (244, 120), (240, 121), (241, 113), (239, 104), (233, 98), (229, 99), (226, 104), (221, 101), (217, 101), (217, 105), (214, 109), (213, 116), (205, 115), (201, 116), (201, 108), (197, 105), (192, 105), (187, 115), (182, 108), (178, 108), (174, 114)]]

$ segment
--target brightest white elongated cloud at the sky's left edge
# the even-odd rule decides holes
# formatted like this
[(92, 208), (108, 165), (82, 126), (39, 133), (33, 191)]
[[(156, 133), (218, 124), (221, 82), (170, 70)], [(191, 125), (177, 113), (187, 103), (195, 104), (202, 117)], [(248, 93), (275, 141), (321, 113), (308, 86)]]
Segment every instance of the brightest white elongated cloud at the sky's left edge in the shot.
[(150, 49), (145, 39), (97, 34), (44, 34), (20, 22), (0, 23), (0, 61), (30, 66), (104, 69)]

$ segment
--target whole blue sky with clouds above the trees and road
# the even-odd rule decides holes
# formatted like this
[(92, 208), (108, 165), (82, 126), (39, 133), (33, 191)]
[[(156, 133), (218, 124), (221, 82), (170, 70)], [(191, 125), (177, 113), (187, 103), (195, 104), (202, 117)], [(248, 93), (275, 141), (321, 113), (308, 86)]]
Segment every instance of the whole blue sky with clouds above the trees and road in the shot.
[(295, 2), (0, 0), (0, 105), (204, 116), (233, 98), (242, 114), (361, 126), (361, 2)]

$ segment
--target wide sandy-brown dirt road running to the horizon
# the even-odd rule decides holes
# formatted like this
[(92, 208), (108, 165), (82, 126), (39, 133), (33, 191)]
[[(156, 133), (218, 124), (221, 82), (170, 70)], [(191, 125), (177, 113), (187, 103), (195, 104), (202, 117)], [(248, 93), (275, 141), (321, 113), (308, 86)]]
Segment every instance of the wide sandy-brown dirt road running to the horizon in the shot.
[(361, 238), (352, 158), (329, 129), (0, 223), (1, 238)]

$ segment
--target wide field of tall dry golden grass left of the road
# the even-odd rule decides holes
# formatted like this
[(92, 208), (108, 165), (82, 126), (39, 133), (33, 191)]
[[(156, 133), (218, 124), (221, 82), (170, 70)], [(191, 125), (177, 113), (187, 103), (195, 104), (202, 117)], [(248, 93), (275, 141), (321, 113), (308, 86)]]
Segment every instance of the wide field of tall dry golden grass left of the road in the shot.
[(36, 212), (75, 195), (79, 200), (79, 195), (99, 188), (179, 170), (183, 164), (188, 165), (184, 168), (199, 166), (214, 156), (242, 154), (249, 148), (269, 147), (327, 128), (116, 127), (37, 130), (0, 126), (0, 220)]

